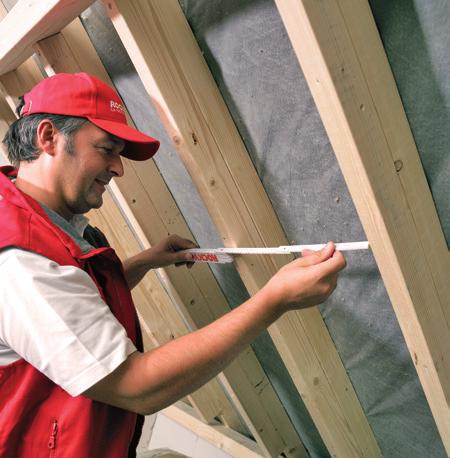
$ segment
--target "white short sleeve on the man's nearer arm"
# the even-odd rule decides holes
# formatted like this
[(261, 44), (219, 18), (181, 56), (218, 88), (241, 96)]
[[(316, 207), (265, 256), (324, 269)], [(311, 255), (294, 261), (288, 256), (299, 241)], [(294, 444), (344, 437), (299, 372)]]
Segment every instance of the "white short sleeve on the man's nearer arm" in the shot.
[(72, 396), (136, 351), (83, 270), (9, 249), (0, 278), (0, 340)]

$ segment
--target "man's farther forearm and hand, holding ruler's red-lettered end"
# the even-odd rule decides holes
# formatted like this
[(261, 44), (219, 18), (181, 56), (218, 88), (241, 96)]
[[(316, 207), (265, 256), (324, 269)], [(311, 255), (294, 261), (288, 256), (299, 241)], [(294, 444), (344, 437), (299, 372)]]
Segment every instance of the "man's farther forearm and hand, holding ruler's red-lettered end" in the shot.
[(165, 267), (170, 264), (190, 267), (192, 255), (180, 253), (181, 250), (197, 248), (193, 242), (178, 235), (171, 235), (157, 245), (142, 251), (123, 262), (125, 278), (130, 289), (133, 289), (150, 269)]

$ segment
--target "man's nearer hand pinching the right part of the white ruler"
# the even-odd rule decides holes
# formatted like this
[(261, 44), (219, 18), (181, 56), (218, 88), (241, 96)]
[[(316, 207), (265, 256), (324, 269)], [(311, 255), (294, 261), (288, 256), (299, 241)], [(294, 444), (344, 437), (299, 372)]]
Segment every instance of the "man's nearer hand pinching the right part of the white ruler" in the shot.
[(345, 266), (344, 256), (332, 242), (320, 251), (304, 250), (302, 257), (283, 266), (261, 293), (282, 313), (318, 305), (334, 291), (338, 273)]

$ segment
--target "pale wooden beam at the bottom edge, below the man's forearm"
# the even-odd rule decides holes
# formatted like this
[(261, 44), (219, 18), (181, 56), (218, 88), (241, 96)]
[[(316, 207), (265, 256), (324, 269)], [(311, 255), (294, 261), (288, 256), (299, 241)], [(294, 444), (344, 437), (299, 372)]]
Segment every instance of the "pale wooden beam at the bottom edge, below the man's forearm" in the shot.
[(195, 411), (183, 402), (161, 411), (161, 414), (190, 429), (202, 439), (231, 456), (261, 458), (263, 455), (256, 442), (220, 424), (205, 425)]

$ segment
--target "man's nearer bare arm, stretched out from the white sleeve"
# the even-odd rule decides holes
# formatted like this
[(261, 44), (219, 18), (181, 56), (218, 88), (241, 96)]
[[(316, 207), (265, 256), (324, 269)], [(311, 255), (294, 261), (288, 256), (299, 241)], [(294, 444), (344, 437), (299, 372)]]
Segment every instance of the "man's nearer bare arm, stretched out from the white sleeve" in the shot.
[(221, 372), (285, 312), (323, 302), (344, 267), (332, 244), (308, 252), (280, 269), (240, 307), (155, 350), (133, 353), (84, 395), (141, 414), (160, 410)]

